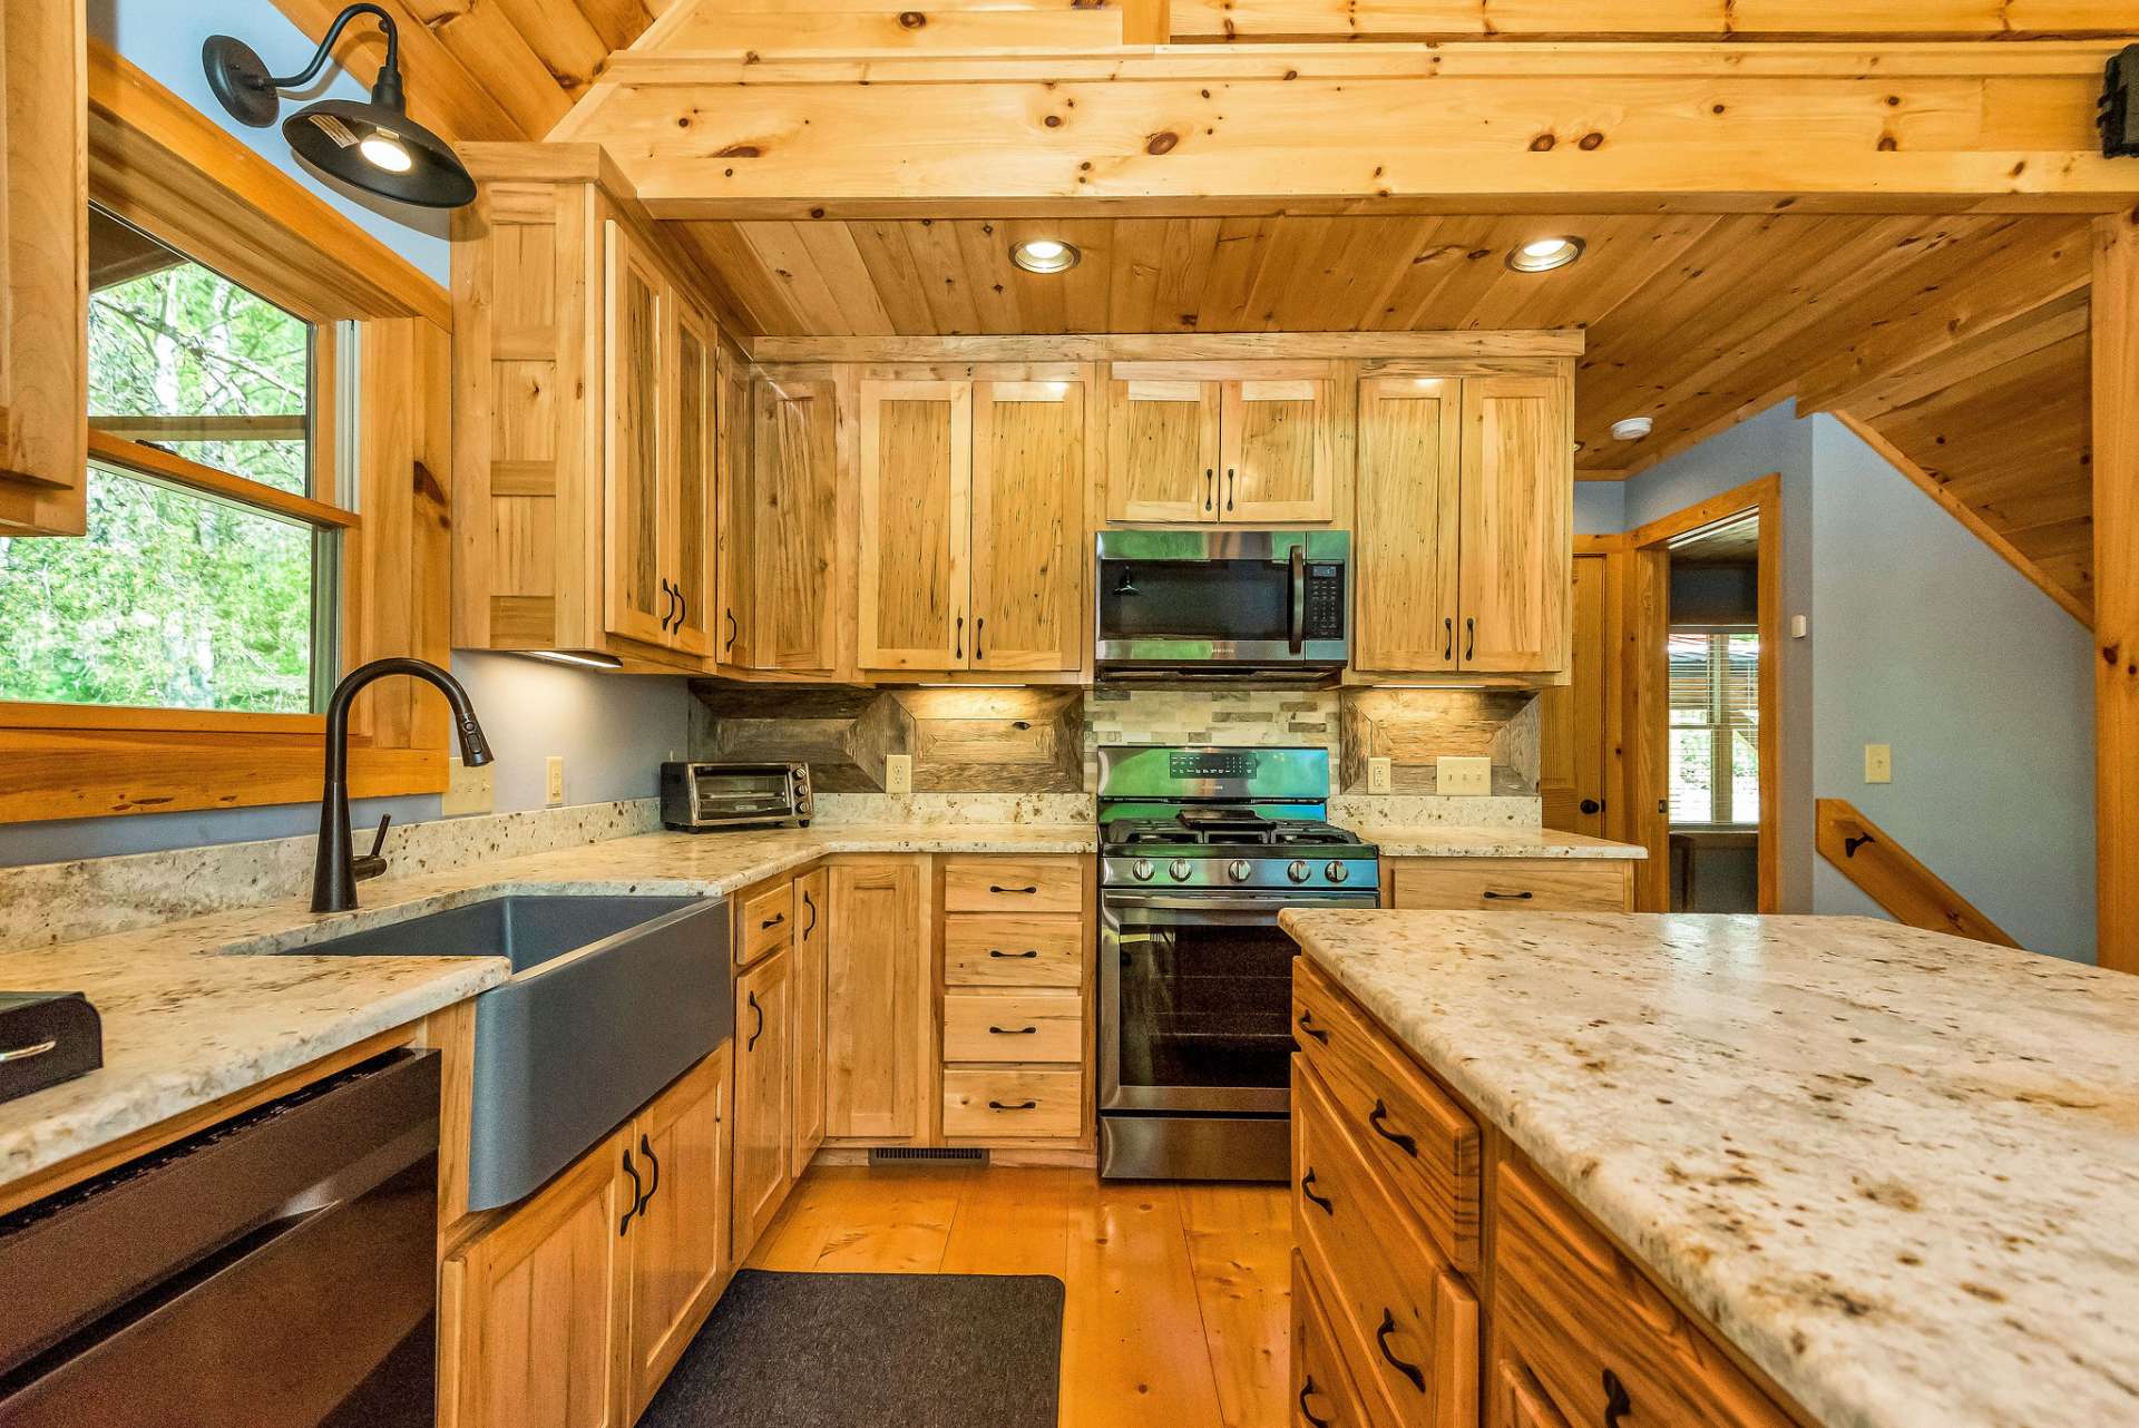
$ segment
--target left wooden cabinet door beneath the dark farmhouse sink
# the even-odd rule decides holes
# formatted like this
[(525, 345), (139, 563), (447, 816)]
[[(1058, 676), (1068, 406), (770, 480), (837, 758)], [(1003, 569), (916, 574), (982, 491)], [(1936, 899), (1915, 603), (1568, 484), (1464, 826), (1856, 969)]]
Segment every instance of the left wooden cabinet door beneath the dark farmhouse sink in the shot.
[(629, 1124), (438, 1270), (443, 1428), (622, 1428)]

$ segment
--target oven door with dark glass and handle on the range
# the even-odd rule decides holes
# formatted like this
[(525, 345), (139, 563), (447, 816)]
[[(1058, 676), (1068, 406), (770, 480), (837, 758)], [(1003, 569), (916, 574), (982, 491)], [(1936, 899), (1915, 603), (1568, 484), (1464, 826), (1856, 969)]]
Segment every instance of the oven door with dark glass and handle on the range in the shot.
[(1102, 1112), (1286, 1114), (1288, 906), (1375, 906), (1375, 894), (1099, 896)]

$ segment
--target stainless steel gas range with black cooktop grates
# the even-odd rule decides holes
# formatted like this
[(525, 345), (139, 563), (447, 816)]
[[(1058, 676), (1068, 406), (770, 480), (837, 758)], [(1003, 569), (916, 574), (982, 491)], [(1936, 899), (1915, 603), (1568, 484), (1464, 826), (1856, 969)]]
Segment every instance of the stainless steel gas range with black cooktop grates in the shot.
[(1286, 1180), (1288, 906), (1375, 906), (1324, 748), (1099, 750), (1099, 1174)]

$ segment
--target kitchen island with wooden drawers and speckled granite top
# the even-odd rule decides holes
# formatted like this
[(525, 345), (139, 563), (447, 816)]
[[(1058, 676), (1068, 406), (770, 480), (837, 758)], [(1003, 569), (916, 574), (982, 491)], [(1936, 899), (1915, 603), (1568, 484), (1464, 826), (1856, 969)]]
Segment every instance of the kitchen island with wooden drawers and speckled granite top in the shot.
[[(1345, 1030), (1425, 1071), (1382, 1159), (1448, 1171), (1403, 1223), (1435, 1231), (1491, 1422), (2139, 1422), (2139, 981), (1855, 917), (1283, 926), (1296, 1120), (1303, 1080), (1345, 1118)], [(1382, 1163), (1403, 1107), (1371, 1103), (1324, 1159)]]

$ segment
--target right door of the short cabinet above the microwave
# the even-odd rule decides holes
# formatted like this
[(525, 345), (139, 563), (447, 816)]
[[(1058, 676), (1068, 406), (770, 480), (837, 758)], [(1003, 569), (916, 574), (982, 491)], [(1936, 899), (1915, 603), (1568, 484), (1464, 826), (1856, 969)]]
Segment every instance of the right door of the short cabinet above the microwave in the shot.
[(1326, 381), (1230, 381), (1224, 430), (1221, 522), (1337, 519)]

